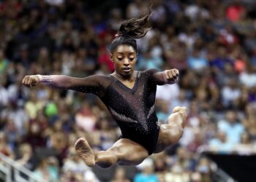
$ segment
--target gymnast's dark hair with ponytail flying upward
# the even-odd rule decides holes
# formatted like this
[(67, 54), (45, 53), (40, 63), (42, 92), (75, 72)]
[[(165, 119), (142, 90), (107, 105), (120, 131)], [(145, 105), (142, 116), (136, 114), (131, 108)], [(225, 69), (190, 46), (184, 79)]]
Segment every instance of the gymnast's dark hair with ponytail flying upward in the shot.
[(120, 25), (116, 38), (110, 44), (110, 52), (116, 50), (121, 44), (132, 46), (138, 52), (138, 46), (135, 39), (145, 36), (151, 27), (149, 26), (149, 18), (152, 15), (152, 8), (148, 9), (148, 13), (142, 17), (124, 20)]

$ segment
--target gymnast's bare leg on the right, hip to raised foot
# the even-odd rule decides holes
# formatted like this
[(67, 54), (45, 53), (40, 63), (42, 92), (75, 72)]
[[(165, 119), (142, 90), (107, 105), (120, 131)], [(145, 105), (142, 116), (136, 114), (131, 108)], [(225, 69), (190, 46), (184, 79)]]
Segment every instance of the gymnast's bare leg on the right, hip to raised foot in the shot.
[(187, 108), (175, 107), (173, 114), (167, 119), (167, 124), (160, 126), (159, 138), (157, 142), (157, 150), (154, 153), (159, 153), (165, 150), (168, 146), (177, 143), (183, 135), (185, 123), (187, 121)]

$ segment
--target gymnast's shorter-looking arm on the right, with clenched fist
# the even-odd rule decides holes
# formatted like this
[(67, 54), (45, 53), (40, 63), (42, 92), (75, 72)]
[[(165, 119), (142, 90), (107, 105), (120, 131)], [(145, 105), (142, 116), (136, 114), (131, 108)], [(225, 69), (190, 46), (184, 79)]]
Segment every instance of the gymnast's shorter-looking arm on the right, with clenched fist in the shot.
[(152, 69), (151, 72), (154, 81), (157, 82), (158, 85), (175, 84), (178, 80), (178, 70), (176, 68), (165, 71)]

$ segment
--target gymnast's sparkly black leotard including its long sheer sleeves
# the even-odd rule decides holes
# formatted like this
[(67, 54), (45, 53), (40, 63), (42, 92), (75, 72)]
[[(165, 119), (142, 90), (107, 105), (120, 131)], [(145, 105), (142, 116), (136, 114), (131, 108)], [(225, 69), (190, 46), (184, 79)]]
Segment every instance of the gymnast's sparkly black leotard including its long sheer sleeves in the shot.
[[(99, 96), (121, 129), (121, 137), (140, 143), (152, 154), (157, 146), (159, 123), (155, 108), (157, 84), (171, 83), (155, 69), (138, 71), (134, 87), (122, 84), (113, 76), (50, 76), (42, 79), (51, 87), (90, 92)], [(45, 81), (44, 81), (45, 80)]]

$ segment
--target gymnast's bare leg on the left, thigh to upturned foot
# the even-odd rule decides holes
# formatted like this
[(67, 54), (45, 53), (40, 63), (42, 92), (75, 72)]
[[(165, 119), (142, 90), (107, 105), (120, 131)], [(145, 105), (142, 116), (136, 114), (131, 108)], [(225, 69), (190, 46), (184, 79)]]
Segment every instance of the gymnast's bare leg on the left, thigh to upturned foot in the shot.
[(86, 165), (95, 164), (102, 168), (118, 165), (139, 165), (148, 157), (148, 151), (138, 143), (127, 138), (116, 141), (107, 151), (94, 152), (86, 138), (79, 138), (75, 143), (75, 150)]

